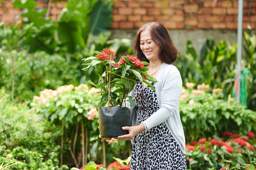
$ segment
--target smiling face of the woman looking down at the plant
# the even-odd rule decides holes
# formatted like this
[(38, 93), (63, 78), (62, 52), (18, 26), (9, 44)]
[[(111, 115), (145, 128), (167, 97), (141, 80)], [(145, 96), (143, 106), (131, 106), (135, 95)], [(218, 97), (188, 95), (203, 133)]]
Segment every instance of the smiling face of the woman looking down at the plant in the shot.
[(159, 60), (161, 48), (152, 40), (148, 29), (140, 33), (140, 49), (149, 61)]

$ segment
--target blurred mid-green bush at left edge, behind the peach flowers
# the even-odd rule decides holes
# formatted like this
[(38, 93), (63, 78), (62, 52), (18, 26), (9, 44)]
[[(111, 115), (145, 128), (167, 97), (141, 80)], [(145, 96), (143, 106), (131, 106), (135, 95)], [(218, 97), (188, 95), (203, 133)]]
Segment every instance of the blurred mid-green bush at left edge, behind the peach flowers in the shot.
[(44, 51), (28, 54), (27, 51), (0, 51), (0, 86), (5, 87), (13, 101), (31, 101), (45, 88), (56, 89), (74, 83), (81, 77), (78, 65), (71, 64), (61, 55)]

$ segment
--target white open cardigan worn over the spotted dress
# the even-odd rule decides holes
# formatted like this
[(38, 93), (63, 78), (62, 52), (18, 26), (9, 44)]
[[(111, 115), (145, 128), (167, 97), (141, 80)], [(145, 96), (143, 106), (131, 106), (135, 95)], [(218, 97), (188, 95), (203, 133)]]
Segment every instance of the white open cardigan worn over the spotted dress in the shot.
[(165, 122), (174, 139), (185, 154), (185, 135), (180, 119), (179, 103), (182, 90), (182, 78), (173, 64), (164, 63), (157, 74), (155, 91), (159, 110), (142, 122), (149, 130)]

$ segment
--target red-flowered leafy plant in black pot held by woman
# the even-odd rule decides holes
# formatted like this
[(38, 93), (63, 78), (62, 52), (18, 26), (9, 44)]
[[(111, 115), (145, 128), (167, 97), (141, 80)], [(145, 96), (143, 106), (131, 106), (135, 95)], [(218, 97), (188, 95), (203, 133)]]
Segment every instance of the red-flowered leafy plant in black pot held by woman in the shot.
[[(133, 88), (136, 82), (144, 82), (155, 89), (151, 82), (157, 82), (154, 77), (147, 74), (148, 62), (142, 62), (133, 55), (124, 55), (116, 62), (116, 53), (110, 49), (94, 51), (92, 57), (84, 58), (83, 70), (94, 68), (99, 76), (97, 84), (88, 80), (95, 88), (99, 89), (101, 99), (98, 106), (99, 126), (101, 137), (116, 138), (127, 134), (122, 126), (132, 125), (132, 108), (135, 101), (132, 99)], [(130, 105), (130, 109), (126, 106)]]

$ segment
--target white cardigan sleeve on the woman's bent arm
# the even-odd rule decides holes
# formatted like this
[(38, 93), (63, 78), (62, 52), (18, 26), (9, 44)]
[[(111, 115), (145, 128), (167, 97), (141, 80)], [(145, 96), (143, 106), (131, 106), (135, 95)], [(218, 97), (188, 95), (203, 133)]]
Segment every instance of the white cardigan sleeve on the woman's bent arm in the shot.
[(174, 113), (177, 113), (179, 108), (182, 79), (177, 68), (173, 66), (171, 69), (164, 69), (157, 81), (159, 82), (156, 85), (159, 110), (142, 122), (147, 130), (168, 120)]

